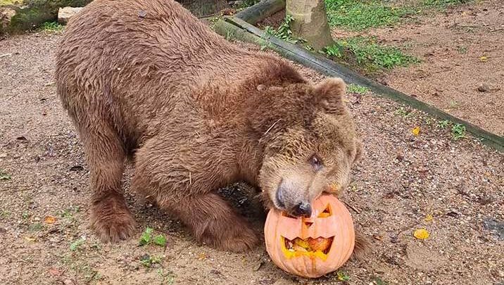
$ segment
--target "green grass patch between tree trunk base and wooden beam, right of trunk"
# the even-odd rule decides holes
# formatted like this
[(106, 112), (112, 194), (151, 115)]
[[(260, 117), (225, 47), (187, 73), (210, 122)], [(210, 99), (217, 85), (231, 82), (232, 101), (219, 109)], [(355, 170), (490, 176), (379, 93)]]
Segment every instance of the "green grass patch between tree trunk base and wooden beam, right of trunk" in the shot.
[(324, 52), (329, 58), (355, 65), (368, 74), (420, 62), (396, 47), (377, 44), (372, 37), (338, 39), (336, 44), (326, 47)]

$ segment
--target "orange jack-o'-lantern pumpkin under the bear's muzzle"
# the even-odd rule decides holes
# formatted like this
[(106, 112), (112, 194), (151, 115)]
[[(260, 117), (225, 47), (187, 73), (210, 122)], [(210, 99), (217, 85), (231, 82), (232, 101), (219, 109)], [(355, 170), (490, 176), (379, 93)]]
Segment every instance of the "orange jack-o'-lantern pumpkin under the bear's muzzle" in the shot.
[(291, 217), (272, 209), (264, 234), (275, 264), (301, 277), (321, 277), (343, 265), (353, 252), (355, 232), (348, 209), (335, 196), (323, 194), (312, 203), (311, 217)]

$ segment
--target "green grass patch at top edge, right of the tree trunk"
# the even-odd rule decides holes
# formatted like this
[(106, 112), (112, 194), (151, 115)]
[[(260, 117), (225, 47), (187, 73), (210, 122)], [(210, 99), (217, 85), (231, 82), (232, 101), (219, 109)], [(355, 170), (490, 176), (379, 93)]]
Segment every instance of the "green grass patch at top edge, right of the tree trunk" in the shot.
[[(433, 0), (434, 1), (434, 0)], [(389, 6), (378, 0), (325, 0), (327, 20), (333, 27), (365, 30), (393, 25), (405, 15), (416, 13), (407, 6)]]

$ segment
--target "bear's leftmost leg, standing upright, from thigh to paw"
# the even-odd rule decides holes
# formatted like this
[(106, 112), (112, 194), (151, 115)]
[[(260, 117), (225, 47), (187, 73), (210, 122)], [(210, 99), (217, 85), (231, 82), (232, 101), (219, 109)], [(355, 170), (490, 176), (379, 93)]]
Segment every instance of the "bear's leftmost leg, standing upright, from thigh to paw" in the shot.
[(134, 231), (135, 222), (121, 185), (126, 158), (122, 141), (106, 124), (83, 129), (80, 134), (93, 191), (91, 227), (102, 242), (127, 239)]

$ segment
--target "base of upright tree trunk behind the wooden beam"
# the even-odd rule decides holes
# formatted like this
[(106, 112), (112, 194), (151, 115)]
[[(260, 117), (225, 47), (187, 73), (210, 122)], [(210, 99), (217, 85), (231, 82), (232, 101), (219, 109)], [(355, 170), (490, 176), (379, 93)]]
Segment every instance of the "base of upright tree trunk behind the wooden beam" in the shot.
[(306, 40), (315, 51), (334, 44), (324, 0), (287, 0), (286, 15), (292, 16), (294, 36)]

